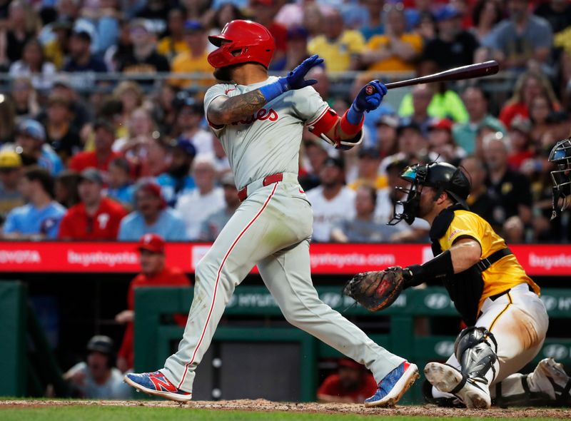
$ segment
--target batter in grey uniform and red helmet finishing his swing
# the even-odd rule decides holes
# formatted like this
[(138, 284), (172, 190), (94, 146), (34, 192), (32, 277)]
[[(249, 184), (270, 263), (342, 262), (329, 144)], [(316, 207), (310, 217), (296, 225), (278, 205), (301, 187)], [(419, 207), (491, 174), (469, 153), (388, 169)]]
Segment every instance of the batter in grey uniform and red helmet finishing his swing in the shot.
[(373, 372), (378, 390), (367, 406), (393, 405), (418, 377), (418, 368), (373, 343), (318, 298), (310, 277), (312, 212), (298, 184), (299, 148), (308, 126), (337, 148), (360, 143), (365, 111), (386, 88), (372, 81), (339, 117), (310, 87), (305, 74), (323, 60), (312, 56), (284, 78), (268, 77), (275, 50), (268, 30), (231, 21), (209, 37), (208, 56), (220, 81), (204, 106), (226, 150), (243, 201), (196, 267), (196, 288), (178, 351), (157, 372), (128, 374), (126, 382), (151, 395), (191, 400), (194, 372), (233, 294), (258, 265), (263, 282), (291, 324), (323, 340)]

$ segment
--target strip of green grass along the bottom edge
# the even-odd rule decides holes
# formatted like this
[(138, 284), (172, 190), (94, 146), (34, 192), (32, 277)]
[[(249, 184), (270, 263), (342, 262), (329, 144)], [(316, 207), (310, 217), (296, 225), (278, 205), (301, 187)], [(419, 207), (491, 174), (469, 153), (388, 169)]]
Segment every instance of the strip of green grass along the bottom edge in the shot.
[[(244, 412), (227, 410), (197, 410), (188, 408), (166, 407), (97, 407), (97, 406), (68, 406), (68, 407), (19, 407), (2, 408), (2, 421), (241, 421), (241, 420), (271, 420), (271, 421), (451, 421), (454, 418), (440, 417), (383, 417), (382, 415), (342, 415), (315, 414), (302, 412)], [(463, 420), (492, 421), (500, 418), (463, 418)], [(503, 420), (506, 420), (505, 418)], [(550, 418), (510, 418), (510, 421), (540, 421)]]

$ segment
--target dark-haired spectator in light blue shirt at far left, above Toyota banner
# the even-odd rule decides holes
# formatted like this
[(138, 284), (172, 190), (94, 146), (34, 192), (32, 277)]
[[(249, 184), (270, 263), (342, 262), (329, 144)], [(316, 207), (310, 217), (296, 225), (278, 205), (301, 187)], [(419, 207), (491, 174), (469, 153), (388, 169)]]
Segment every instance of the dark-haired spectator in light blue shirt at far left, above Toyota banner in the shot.
[(3, 238), (18, 240), (53, 240), (57, 237), (66, 209), (54, 201), (54, 179), (38, 166), (26, 168), (19, 190), (27, 202), (6, 216)]

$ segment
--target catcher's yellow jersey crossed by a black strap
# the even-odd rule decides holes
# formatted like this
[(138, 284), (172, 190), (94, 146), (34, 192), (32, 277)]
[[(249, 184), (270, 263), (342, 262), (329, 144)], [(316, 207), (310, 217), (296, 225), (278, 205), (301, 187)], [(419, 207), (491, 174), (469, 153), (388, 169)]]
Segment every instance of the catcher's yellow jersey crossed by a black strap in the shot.
[[(468, 210), (455, 210), (452, 223), (450, 223), (445, 235), (439, 240), (440, 247), (443, 251), (448, 250), (455, 240), (461, 237), (470, 237), (480, 243), (482, 248), (480, 258), (482, 259), (507, 247), (505, 240), (495, 233), (486, 220)], [(491, 265), (490, 268), (482, 272), (482, 279), (484, 280), (484, 291), (480, 298), (478, 310), (486, 298), (503, 293), (520, 283), (527, 283), (537, 295), (540, 294), (540, 287), (525, 274), (525, 270), (515, 255), (507, 255)]]

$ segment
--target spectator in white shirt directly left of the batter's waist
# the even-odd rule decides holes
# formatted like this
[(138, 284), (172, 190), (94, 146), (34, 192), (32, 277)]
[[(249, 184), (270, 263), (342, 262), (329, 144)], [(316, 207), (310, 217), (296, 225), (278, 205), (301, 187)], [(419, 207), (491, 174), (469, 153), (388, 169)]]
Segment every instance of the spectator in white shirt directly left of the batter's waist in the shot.
[(216, 186), (216, 168), (210, 156), (198, 156), (193, 162), (192, 176), (196, 188), (178, 198), (176, 210), (186, 225), (190, 240), (197, 240), (204, 220), (224, 208), (224, 192)]

